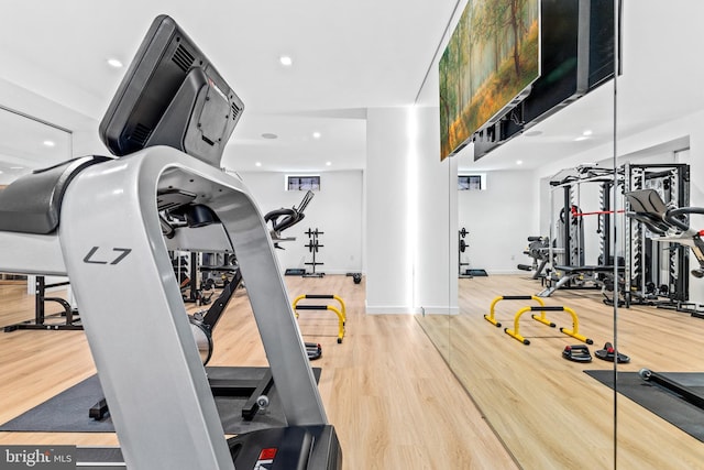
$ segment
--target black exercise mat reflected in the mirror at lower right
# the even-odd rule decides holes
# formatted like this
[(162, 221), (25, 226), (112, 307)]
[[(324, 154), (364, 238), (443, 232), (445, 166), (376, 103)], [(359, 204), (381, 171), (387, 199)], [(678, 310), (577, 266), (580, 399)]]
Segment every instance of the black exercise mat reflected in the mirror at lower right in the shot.
[[(614, 389), (613, 370), (584, 372), (609, 389)], [(704, 394), (704, 373), (660, 372), (660, 374)], [(658, 384), (646, 382), (638, 375), (638, 372), (618, 372), (618, 393), (704, 442), (704, 411), (702, 408), (680, 398), (673, 392)]]

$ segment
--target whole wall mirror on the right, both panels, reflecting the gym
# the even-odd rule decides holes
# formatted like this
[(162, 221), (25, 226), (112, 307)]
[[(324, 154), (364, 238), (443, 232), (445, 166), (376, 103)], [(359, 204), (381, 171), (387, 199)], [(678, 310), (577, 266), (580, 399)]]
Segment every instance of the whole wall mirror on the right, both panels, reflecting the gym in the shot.
[[(477, 53), (479, 43), (453, 46), (451, 35), (488, 28), (480, 17), (490, 3), (504, 2), (461, 2), (446, 61), (462, 63), (459, 47)], [(540, 9), (543, 77), (558, 58), (544, 41), (564, 34), (552, 23), (560, 14), (576, 14), (578, 50), (580, 32), (590, 32), (586, 92), (531, 122), (546, 108), (530, 100), (559, 80), (536, 81), (517, 98), (521, 113), (475, 133), (450, 159), (458, 311), (419, 323), (521, 467), (696, 468), (704, 67), (688, 57), (704, 4), (542, 0)], [(460, 20), (468, 10), (469, 28)], [(610, 30), (609, 18), (619, 19)], [(609, 46), (619, 61), (605, 61)], [(449, 79), (441, 61), (438, 83), (427, 86), (440, 89), (440, 127), (453, 132), (442, 88), (470, 85)], [(598, 75), (606, 63), (608, 77)], [(663, 214), (682, 207), (694, 209), (667, 222)], [(649, 227), (649, 217), (659, 222)]]

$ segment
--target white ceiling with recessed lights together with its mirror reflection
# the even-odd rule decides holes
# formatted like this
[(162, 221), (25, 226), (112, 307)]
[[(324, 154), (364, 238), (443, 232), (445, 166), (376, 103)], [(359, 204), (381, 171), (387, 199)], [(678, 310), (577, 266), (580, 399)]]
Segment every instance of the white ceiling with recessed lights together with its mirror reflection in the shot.
[[(432, 61), (444, 47), (455, 6), (457, 0), (6, 2), (0, 7), (0, 105), (26, 106), (25, 112), (97, 135), (124, 73), (106, 59), (129, 63), (152, 19), (167, 13), (245, 102), (226, 151), (227, 167), (362, 168), (367, 108), (408, 106), (419, 92), (422, 105), (437, 106)], [(625, 0), (624, 10), (619, 134), (703, 109), (704, 67), (695, 47), (704, 2)], [(289, 68), (278, 63), (284, 54), (294, 59)], [(33, 98), (8, 91), (20, 88)], [(608, 84), (531, 129), (540, 135), (514, 139), (476, 163), (460, 156), (460, 167), (516, 168), (520, 159), (522, 167), (532, 168), (608, 144), (613, 102)], [(575, 142), (586, 129), (593, 135)], [(321, 138), (314, 139), (314, 132)]]

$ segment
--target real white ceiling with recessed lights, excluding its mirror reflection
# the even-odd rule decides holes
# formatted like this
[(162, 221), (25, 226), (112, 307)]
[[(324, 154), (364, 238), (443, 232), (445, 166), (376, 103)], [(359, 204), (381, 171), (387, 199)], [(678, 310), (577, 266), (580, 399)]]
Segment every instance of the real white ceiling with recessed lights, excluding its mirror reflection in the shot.
[[(128, 64), (152, 20), (167, 13), (245, 103), (226, 166), (309, 171), (363, 167), (366, 108), (413, 103), (455, 0), (41, 3), (0, 7), (7, 80), (100, 120), (124, 73), (106, 59)], [(283, 67), (280, 55), (294, 65)]]

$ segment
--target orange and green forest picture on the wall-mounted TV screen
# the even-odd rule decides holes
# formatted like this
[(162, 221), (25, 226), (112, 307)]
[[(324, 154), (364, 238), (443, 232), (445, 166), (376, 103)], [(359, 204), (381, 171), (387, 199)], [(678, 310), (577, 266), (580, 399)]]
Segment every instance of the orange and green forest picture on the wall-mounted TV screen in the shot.
[(441, 160), (540, 76), (539, 0), (470, 0), (440, 59)]

